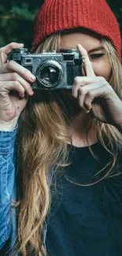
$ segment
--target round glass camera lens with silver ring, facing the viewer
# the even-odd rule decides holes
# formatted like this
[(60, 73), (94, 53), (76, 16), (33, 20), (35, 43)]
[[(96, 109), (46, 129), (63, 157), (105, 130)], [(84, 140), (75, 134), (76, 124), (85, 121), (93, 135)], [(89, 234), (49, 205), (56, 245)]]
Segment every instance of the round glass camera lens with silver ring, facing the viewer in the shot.
[(43, 87), (51, 89), (61, 82), (63, 70), (57, 61), (46, 61), (39, 65), (36, 77)]

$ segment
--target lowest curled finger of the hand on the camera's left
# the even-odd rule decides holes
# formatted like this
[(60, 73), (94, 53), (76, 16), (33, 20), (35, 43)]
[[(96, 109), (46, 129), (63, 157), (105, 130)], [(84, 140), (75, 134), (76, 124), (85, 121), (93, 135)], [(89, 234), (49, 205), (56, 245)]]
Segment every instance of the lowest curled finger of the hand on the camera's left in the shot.
[(0, 98), (5, 98), (12, 90), (18, 91), (20, 97), (24, 98), (25, 89), (18, 81), (0, 82)]

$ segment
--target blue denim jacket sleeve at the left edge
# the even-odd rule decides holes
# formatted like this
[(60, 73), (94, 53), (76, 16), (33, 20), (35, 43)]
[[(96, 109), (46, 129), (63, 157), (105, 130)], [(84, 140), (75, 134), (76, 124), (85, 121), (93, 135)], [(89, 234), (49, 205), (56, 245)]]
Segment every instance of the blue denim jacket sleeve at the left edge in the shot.
[(11, 232), (10, 205), (15, 182), (14, 143), (17, 128), (13, 132), (0, 132), (0, 249)]

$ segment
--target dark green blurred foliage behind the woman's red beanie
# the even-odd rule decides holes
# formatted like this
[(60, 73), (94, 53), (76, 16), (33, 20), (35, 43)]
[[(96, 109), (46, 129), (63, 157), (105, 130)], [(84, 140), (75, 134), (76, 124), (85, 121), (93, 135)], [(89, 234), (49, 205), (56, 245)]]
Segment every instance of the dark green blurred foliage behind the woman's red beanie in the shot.
[[(43, 0), (0, 1), (0, 46), (15, 41), (31, 48), (35, 14), (43, 2)], [(108, 0), (107, 2), (113, 9), (122, 32), (122, 1)]]

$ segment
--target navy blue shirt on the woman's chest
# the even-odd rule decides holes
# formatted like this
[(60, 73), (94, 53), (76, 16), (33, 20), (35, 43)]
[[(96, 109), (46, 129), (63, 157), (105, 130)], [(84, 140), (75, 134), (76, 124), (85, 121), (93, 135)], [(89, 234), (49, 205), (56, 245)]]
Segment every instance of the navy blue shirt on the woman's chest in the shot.
[[(110, 165), (94, 176), (112, 157), (100, 143), (91, 148), (96, 159), (88, 147), (72, 147), (71, 164), (54, 178), (46, 236), (50, 256), (122, 255), (122, 176), (91, 186), (74, 184), (91, 184), (109, 170)], [(118, 159), (113, 174), (119, 172)]]

